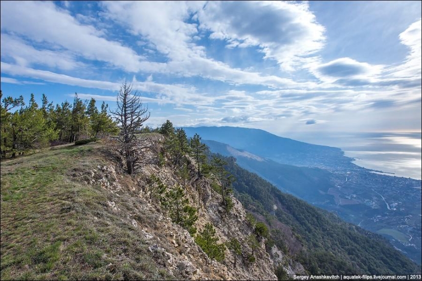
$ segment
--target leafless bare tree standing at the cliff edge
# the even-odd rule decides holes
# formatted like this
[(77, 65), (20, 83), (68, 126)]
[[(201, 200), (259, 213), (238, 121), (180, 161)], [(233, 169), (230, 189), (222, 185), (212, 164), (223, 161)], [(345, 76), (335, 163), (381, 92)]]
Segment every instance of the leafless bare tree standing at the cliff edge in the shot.
[(110, 113), (119, 123), (119, 152), (126, 160), (127, 173), (130, 175), (141, 165), (139, 153), (146, 148), (142, 144), (146, 139), (139, 139), (137, 133), (149, 118), (148, 107), (142, 104), (138, 91), (132, 90), (132, 85), (125, 81), (117, 95), (117, 108)]

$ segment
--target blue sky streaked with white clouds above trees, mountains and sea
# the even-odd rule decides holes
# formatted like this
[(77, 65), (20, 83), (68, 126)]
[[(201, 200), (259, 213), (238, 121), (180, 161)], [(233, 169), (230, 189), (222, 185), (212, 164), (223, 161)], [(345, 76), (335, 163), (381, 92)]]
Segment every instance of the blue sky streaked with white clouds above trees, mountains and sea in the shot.
[(1, 89), (152, 126), (421, 131), (421, 2), (1, 2)]

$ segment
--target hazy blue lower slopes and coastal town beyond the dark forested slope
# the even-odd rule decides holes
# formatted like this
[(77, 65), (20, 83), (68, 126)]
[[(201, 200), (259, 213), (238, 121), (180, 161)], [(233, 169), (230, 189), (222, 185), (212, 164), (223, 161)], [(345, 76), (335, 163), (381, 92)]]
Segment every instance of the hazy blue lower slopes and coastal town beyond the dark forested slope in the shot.
[(375, 174), (366, 169), (335, 171), (283, 165), (213, 140), (204, 143), (212, 152), (236, 157), (240, 167), (268, 180), (282, 192), (383, 235), (410, 259), (421, 263), (420, 188), (414, 188), (420, 186), (420, 180)]

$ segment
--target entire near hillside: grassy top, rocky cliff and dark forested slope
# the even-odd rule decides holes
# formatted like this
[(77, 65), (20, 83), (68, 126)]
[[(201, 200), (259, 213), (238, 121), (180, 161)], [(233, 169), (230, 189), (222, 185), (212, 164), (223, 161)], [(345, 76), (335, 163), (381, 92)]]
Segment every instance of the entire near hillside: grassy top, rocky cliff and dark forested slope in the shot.
[[(139, 152), (148, 163), (133, 176), (111, 140), (2, 161), (2, 280), (267, 280), (420, 271), (378, 236), (281, 193), (233, 158), (226, 168), (237, 179), (240, 201), (226, 194), (227, 209), (212, 173), (198, 176), (187, 154), (187, 174), (181, 173), (164, 137), (144, 135), (155, 149)], [(243, 206), (270, 227), (269, 235), (262, 224), (257, 232)], [(201, 244), (205, 233), (212, 247)], [(229, 247), (233, 240), (237, 254)]]

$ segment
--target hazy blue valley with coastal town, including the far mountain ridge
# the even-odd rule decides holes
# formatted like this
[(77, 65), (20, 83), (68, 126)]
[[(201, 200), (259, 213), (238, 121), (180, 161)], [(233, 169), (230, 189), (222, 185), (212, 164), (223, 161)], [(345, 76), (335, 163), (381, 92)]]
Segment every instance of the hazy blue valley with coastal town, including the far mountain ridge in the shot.
[[(411, 178), (389, 176), (374, 173), (351, 163), (351, 159), (338, 153), (336, 149), (319, 146), (295, 144), (287, 139), (290, 151), (274, 146), (259, 147), (251, 139), (261, 143), (278, 143), (283, 146), (284, 138), (264, 132), (259, 137), (255, 129), (235, 128), (234, 132), (251, 130), (253, 137), (248, 143), (242, 143), (240, 137), (227, 134), (226, 128), (206, 127), (198, 131), (204, 138), (227, 141), (229, 145), (215, 140), (205, 140), (212, 152), (233, 156), (237, 164), (250, 172), (270, 181), (283, 192), (326, 209), (340, 218), (364, 229), (386, 237), (399, 251), (402, 251), (416, 263), (421, 263), (421, 181)], [(237, 129), (237, 130), (236, 130)], [(187, 128), (189, 133), (190, 128)], [(239, 134), (241, 135), (241, 134)], [(271, 136), (270, 136), (271, 135)], [(266, 141), (266, 138), (272, 139)], [(234, 148), (240, 145), (242, 149)], [(302, 149), (307, 147), (304, 152)], [(296, 151), (301, 150), (301, 151)], [(270, 154), (273, 151), (273, 154)], [(283, 158), (283, 155), (290, 155)], [(255, 153), (258, 152), (258, 153)], [(330, 152), (326, 157), (322, 155)], [(293, 155), (297, 155), (293, 157)], [(305, 156), (304, 156), (305, 155)], [(267, 157), (271, 156), (271, 157)], [(291, 160), (295, 158), (295, 160)], [(300, 159), (306, 159), (301, 162)], [(300, 166), (286, 165), (300, 163)], [(308, 167), (303, 167), (308, 166)]]

